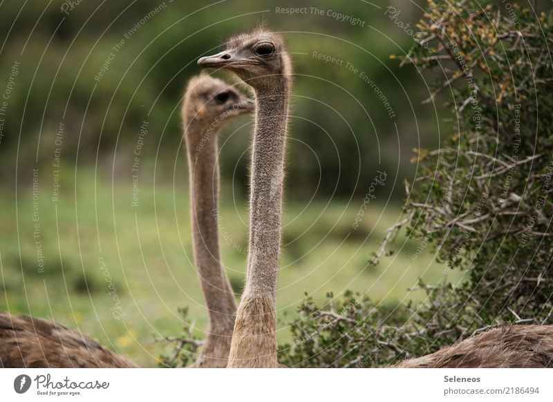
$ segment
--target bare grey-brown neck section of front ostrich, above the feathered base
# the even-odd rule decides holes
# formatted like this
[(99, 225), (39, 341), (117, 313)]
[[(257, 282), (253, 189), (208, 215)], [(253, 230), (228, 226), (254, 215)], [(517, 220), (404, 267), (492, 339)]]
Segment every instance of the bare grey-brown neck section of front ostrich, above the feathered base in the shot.
[(245, 291), (275, 297), (279, 271), (288, 83), (256, 90)]

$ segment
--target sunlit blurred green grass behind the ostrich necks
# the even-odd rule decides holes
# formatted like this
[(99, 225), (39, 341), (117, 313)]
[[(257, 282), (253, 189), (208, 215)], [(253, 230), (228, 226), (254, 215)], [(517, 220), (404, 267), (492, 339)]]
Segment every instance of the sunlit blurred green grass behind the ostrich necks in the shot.
[[(95, 182), (86, 169), (79, 171), (76, 189), (73, 178), (62, 180), (55, 204), (48, 174), (40, 176), (37, 204), (44, 272), (38, 269), (33, 238), (32, 185), (19, 185), (17, 214), (15, 197), (8, 191), (0, 196), (0, 309), (79, 328), (143, 366), (156, 365), (167, 347), (153, 343), (154, 338), (180, 332), (178, 307), (189, 307), (189, 319), (201, 336), (206, 312), (192, 262), (185, 176), (179, 175), (175, 185), (156, 183), (154, 192), (151, 178), (142, 175), (138, 207), (131, 207), (130, 180), (118, 178), (112, 193), (111, 180)], [(226, 190), (221, 202), (223, 258), (239, 290), (247, 250), (247, 202)], [(328, 291), (339, 295), (352, 289), (397, 303), (422, 297), (408, 291), (419, 278), (428, 283), (442, 279), (443, 267), (432, 261), (430, 250), (415, 263), (411, 255), (418, 243), (402, 236), (397, 253), (376, 267), (368, 265), (400, 207), (371, 203), (353, 230), (362, 202), (361, 196), (349, 204), (286, 203), (277, 295), (279, 341), (288, 339), (284, 322), (294, 316), (305, 292), (324, 300)], [(118, 299), (110, 296), (110, 286)], [(114, 311), (122, 314), (120, 319)]]

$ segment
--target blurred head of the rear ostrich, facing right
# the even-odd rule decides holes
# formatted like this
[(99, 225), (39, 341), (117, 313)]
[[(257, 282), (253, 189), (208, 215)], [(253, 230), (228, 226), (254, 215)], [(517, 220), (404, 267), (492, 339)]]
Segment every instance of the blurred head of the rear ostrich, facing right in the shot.
[(187, 86), (182, 119), (184, 122), (221, 123), (254, 110), (254, 101), (233, 86), (209, 75), (199, 75)]

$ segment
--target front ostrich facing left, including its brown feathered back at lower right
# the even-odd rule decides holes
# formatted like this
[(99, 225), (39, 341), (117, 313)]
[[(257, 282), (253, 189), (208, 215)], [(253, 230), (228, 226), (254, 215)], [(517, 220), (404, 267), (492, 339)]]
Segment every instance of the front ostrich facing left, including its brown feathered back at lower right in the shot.
[[(290, 58), (283, 38), (256, 29), (227, 41), (225, 50), (198, 60), (236, 74), (256, 93), (250, 195), (250, 254), (245, 291), (236, 313), (228, 367), (279, 367), (275, 338), (281, 245), (282, 182)], [(473, 336), (396, 367), (551, 367), (552, 325), (516, 325)]]

